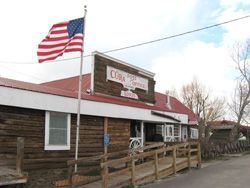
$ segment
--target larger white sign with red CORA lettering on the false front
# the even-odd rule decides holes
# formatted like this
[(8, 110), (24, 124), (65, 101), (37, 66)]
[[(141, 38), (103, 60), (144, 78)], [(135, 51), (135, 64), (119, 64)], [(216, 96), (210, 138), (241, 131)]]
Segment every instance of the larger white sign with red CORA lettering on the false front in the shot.
[(148, 91), (148, 79), (110, 66), (107, 66), (107, 80), (121, 83), (124, 88), (129, 90), (135, 90), (136, 88), (139, 88)]

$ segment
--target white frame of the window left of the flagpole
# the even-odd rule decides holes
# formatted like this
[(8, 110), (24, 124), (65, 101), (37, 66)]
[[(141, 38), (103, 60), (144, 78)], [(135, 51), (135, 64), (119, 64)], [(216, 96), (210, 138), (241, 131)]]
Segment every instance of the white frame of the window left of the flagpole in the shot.
[(61, 113), (67, 115), (67, 144), (66, 145), (51, 145), (49, 144), (50, 136), (50, 113), (52, 111), (45, 112), (45, 143), (44, 150), (70, 150), (70, 128), (71, 128), (71, 114), (63, 112), (53, 112)]

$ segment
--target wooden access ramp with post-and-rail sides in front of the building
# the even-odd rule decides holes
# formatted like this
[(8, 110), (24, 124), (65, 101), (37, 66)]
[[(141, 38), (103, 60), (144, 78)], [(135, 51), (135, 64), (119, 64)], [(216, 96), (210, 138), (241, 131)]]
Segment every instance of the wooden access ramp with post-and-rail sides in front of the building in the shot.
[[(142, 148), (143, 151), (144, 149)], [(95, 159), (101, 160), (101, 180), (89, 183), (83, 187), (108, 188), (130, 184), (136, 186), (167, 177), (185, 168), (199, 168), (201, 166), (200, 145), (197, 142), (182, 143), (170, 147), (158, 144), (157, 147), (151, 146), (150, 150), (146, 151), (145, 149), (144, 152), (136, 153), (135, 155), (116, 159), (102, 159), (107, 157), (100, 156), (98, 159)], [(74, 164), (80, 164), (81, 162), (81, 159), (68, 162), (69, 169), (72, 169)], [(69, 175), (66, 186), (82, 185), (83, 182), (74, 182), (74, 176), (73, 174)]]

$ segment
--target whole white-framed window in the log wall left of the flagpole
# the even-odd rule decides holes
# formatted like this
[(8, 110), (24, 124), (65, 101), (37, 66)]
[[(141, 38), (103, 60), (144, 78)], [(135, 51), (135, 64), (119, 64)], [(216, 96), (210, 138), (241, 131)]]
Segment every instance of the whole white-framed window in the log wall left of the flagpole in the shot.
[(45, 150), (70, 149), (70, 114), (46, 112)]

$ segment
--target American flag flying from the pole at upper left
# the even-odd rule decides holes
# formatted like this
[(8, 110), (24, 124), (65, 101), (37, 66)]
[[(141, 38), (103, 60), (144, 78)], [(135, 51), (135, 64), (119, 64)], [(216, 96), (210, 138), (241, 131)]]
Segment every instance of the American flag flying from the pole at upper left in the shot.
[(38, 45), (38, 62), (54, 60), (66, 52), (82, 52), (83, 27), (84, 18), (53, 25)]

